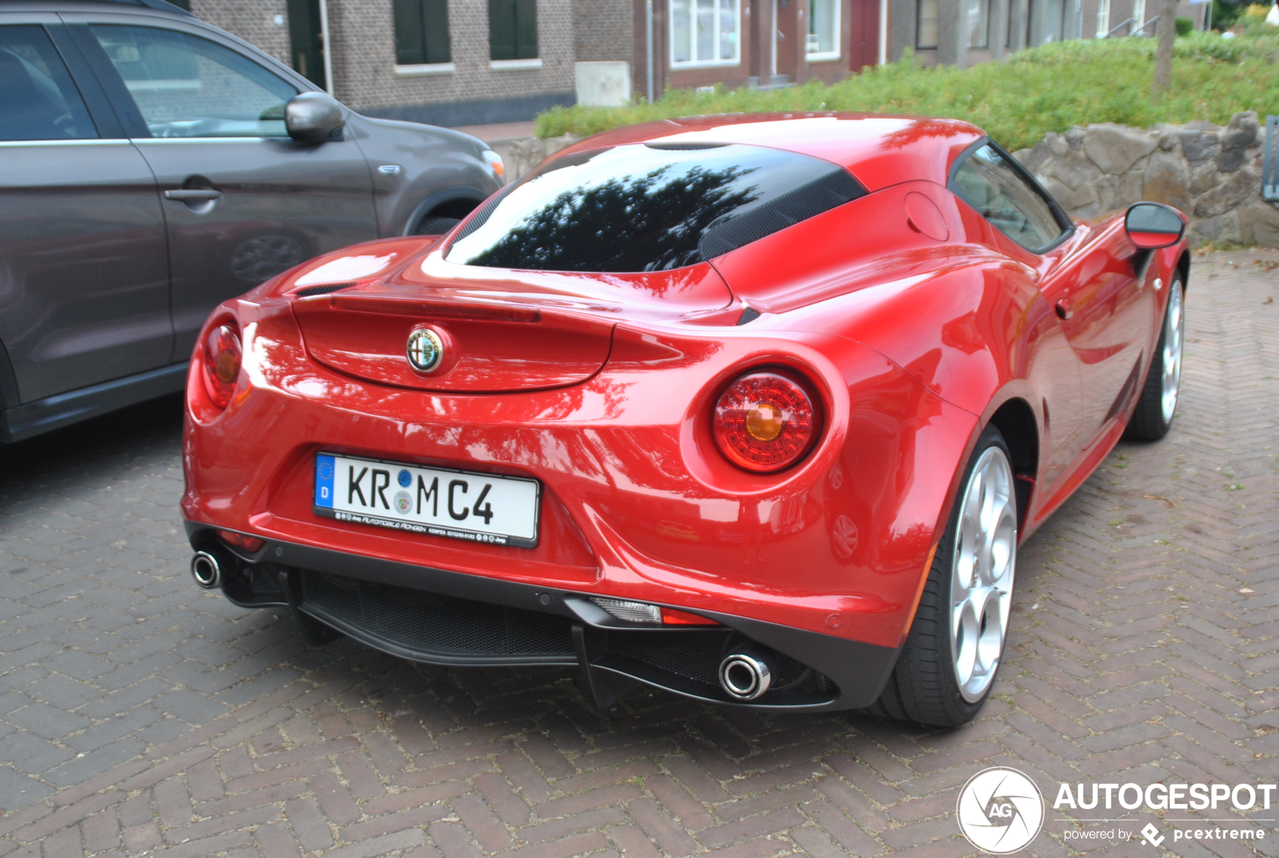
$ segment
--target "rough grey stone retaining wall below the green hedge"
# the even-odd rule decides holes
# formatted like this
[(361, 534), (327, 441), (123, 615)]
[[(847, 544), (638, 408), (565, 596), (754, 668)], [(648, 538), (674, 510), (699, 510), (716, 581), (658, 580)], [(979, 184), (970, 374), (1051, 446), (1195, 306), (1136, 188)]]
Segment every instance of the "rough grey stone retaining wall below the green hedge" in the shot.
[[(1191, 243), (1239, 242), (1279, 247), (1279, 205), (1261, 198), (1257, 114), (1147, 129), (1102, 123), (1048, 134), (1016, 157), (1039, 176), (1071, 217), (1124, 208), (1138, 199), (1166, 202), (1191, 219)], [(579, 137), (530, 138), (510, 148), (521, 176)]]

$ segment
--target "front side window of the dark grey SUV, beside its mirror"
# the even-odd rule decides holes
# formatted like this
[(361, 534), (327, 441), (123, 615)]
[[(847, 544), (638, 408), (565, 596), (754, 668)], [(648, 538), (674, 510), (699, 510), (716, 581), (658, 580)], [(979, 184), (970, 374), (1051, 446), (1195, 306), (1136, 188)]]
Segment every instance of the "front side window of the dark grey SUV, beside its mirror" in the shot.
[(171, 29), (92, 29), (152, 137), (288, 137), (284, 104), (298, 90), (248, 58)]

